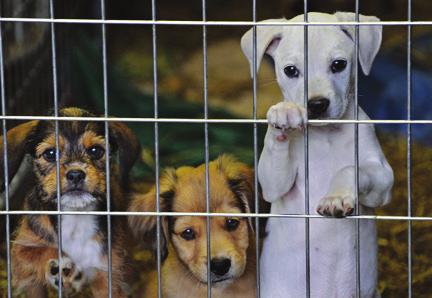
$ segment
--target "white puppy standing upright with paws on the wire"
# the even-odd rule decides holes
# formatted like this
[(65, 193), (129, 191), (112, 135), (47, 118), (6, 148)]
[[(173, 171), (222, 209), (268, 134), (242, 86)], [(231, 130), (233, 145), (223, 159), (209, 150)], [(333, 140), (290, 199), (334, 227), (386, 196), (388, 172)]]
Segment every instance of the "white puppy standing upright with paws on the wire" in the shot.
[[(309, 21), (354, 21), (353, 13), (309, 13)], [(378, 21), (360, 15), (361, 21)], [(289, 24), (303, 21), (303, 15)], [(381, 26), (361, 26), (359, 59), (365, 74), (381, 44)], [(269, 126), (258, 168), (271, 212), (304, 214), (305, 158), (302, 128), (309, 119), (354, 119), (354, 26), (311, 26), (308, 29), (308, 109), (304, 106), (303, 26), (258, 26), (257, 69), (264, 54), (275, 64), (285, 100), (267, 114)], [(253, 33), (242, 38), (253, 71)], [(369, 119), (359, 108), (359, 119)], [(359, 125), (360, 214), (390, 201), (393, 172), (373, 125)], [(308, 212), (344, 217), (355, 208), (355, 140), (353, 124), (309, 126)], [(270, 218), (261, 257), (264, 298), (305, 297), (306, 241), (304, 219)], [(361, 297), (378, 295), (375, 221), (360, 221)], [(353, 219), (310, 220), (311, 297), (356, 296), (356, 224)]]

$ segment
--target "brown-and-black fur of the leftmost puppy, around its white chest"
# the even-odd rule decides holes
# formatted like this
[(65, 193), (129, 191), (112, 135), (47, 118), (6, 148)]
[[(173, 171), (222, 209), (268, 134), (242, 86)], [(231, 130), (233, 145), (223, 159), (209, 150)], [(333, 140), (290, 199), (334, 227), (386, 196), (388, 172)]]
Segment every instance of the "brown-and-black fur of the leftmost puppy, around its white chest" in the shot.
[[(92, 114), (78, 108), (66, 108), (60, 116), (90, 117)], [(44, 152), (55, 148), (54, 123), (31, 121), (21, 124), (7, 133), (9, 181), (16, 173), (25, 154), (33, 157), (37, 185), (25, 198), (27, 210), (57, 210), (56, 162), (44, 158)], [(111, 162), (110, 197), (111, 210), (125, 210), (125, 187), (127, 174), (138, 157), (140, 146), (136, 136), (122, 123), (109, 125), (110, 159), (118, 152), (119, 164)], [(63, 194), (71, 186), (66, 179), (70, 170), (86, 173), (85, 183), (80, 191), (90, 193), (97, 199), (96, 210), (106, 210), (105, 153), (101, 158), (91, 158), (88, 149), (98, 145), (105, 148), (103, 122), (60, 121), (60, 191)], [(0, 142), (0, 163), (3, 164), (3, 140)], [(119, 168), (119, 170), (117, 169)], [(3, 171), (0, 171), (3, 173)], [(119, 175), (120, 172), (120, 175)], [(2, 185), (4, 185), (4, 178)], [(72, 189), (73, 190), (73, 189)], [(121, 289), (125, 282), (126, 252), (122, 248), (126, 225), (122, 218), (112, 218), (112, 290), (113, 297), (125, 297)], [(13, 285), (16, 293), (24, 292), (27, 297), (44, 297), (48, 286), (46, 273), (50, 259), (58, 258), (57, 216), (29, 215), (22, 218), (12, 246)], [(98, 220), (94, 240), (100, 243), (102, 262), (107, 264), (106, 219)], [(64, 255), (64, 253), (63, 253)], [(97, 271), (90, 280), (94, 297), (108, 296), (108, 273)], [(68, 290), (65, 283), (64, 290)]]

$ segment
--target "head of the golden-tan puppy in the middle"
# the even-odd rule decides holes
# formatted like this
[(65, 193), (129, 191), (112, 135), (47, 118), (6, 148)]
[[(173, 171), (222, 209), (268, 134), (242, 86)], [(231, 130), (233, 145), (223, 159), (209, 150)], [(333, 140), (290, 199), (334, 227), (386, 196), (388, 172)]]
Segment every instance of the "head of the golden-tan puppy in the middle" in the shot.
[[(253, 200), (253, 172), (228, 156), (209, 164), (210, 210), (216, 213), (249, 213)], [(206, 212), (205, 166), (169, 170), (160, 180), (161, 211)], [(137, 197), (130, 208), (154, 211), (155, 193)], [(140, 237), (154, 232), (155, 217), (130, 217)], [(207, 283), (207, 220), (205, 217), (172, 216), (162, 221), (165, 248), (170, 241), (175, 254), (197, 281)], [(245, 217), (210, 218), (210, 271), (214, 286), (223, 286), (240, 277), (246, 268), (247, 249), (253, 237)]]

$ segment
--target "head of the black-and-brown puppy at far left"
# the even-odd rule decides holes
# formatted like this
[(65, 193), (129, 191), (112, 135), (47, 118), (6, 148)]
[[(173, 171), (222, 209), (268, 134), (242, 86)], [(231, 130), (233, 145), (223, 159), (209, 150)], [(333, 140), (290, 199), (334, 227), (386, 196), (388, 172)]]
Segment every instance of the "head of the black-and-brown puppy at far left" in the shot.
[[(59, 111), (59, 116), (93, 117), (94, 115), (78, 108), (65, 108)], [(64, 209), (94, 209), (97, 203), (105, 198), (104, 127), (104, 122), (58, 122), (59, 177), (61, 205)], [(109, 128), (110, 158), (119, 152), (120, 168), (126, 175), (139, 153), (139, 143), (124, 124), (110, 123)], [(19, 142), (16, 138), (18, 135)], [(24, 123), (11, 129), (7, 134), (7, 140), (9, 175), (14, 174), (23, 156), (26, 153), (30, 154), (38, 181), (37, 202), (30, 203), (37, 204), (43, 209), (56, 208), (55, 123), (53, 121)], [(114, 168), (112, 172), (115, 172)], [(37, 208), (37, 206), (33, 207)]]

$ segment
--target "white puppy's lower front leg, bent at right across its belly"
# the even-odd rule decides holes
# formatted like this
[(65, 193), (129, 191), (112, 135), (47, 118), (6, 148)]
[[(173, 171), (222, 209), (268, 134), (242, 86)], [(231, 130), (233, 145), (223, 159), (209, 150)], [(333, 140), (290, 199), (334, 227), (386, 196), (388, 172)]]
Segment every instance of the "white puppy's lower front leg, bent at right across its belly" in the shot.
[[(336, 173), (327, 195), (320, 200), (317, 212), (325, 216), (344, 217), (355, 207), (355, 167), (347, 166)], [(393, 171), (387, 161), (370, 162), (359, 168), (360, 204), (370, 208), (387, 204), (391, 199)]]

